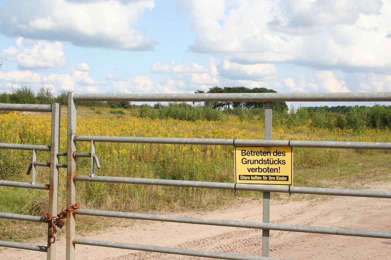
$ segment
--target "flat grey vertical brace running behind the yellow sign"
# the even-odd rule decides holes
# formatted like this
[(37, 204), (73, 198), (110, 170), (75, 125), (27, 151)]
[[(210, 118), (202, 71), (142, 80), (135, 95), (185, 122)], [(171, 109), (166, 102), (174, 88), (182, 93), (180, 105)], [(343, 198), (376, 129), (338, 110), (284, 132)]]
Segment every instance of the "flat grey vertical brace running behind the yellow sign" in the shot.
[[(265, 102), (265, 140), (271, 140), (273, 103)], [(270, 192), (263, 192), (262, 222), (270, 222)], [(269, 257), (270, 230), (262, 230), (262, 256)]]

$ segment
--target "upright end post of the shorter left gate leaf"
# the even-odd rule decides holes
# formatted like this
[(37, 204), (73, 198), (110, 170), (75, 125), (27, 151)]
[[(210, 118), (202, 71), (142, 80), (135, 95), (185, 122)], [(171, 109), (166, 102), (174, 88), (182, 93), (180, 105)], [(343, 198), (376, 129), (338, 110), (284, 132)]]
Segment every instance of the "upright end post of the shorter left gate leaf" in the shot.
[[(59, 163), (59, 149), (60, 149), (60, 104), (52, 104), (52, 133), (50, 137), (50, 185), (49, 185), (49, 210), (48, 214), (57, 216), (57, 204), (58, 204), (58, 167)], [(34, 151), (35, 153), (35, 151)], [(50, 243), (50, 231), (51, 224), (48, 224), (48, 250), (47, 260), (56, 259), (56, 242)]]

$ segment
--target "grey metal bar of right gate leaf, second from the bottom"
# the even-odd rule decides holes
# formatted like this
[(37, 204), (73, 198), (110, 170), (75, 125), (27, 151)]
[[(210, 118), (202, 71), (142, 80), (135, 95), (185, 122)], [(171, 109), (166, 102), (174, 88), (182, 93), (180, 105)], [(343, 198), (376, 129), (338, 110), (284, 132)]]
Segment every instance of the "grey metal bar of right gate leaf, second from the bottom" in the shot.
[(102, 216), (102, 217), (118, 217), (126, 219), (142, 219), (151, 221), (166, 221), (175, 223), (188, 223), (188, 224), (201, 224), (212, 226), (231, 226), (236, 228), (256, 228), (267, 230), (280, 230), (291, 232), (305, 232), (305, 233), (317, 233), (327, 235), (348, 235), (356, 237), (373, 237), (391, 239), (391, 232), (386, 231), (373, 231), (373, 230), (358, 230), (348, 228), (327, 228), (319, 226), (299, 226), (288, 224), (276, 224), (276, 223), (262, 223), (262, 222), (249, 222), (249, 221), (234, 221), (234, 220), (221, 220), (221, 219), (203, 219), (198, 217), (178, 217), (169, 215), (155, 215), (155, 214), (141, 214), (131, 212), (117, 212), (106, 210), (86, 210), (77, 209), (74, 210), (75, 214), (90, 215), (90, 216)]

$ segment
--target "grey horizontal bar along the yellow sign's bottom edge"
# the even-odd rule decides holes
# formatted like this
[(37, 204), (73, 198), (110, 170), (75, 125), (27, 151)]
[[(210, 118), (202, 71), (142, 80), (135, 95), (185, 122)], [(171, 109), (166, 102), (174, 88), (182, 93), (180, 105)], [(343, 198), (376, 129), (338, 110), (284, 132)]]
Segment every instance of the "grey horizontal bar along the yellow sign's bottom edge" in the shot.
[(298, 194), (318, 194), (318, 195), (334, 195), (334, 196), (352, 196), (352, 197), (367, 197), (367, 198), (391, 198), (391, 191), (370, 191), (370, 190), (353, 190), (353, 189), (330, 189), (330, 188), (314, 188), (314, 187), (292, 187), (277, 186), (277, 185), (261, 185), (261, 184), (243, 184), (243, 183), (224, 183), (224, 182), (196, 182), (185, 180), (161, 180), (147, 178), (129, 178), (129, 177), (113, 177), (113, 176), (87, 176), (75, 175), (74, 180), (84, 182), (111, 182), (111, 183), (128, 183), (128, 184), (143, 184), (143, 185), (161, 185), (161, 186), (176, 186), (176, 187), (194, 187), (208, 189), (226, 189), (237, 191), (262, 191), (262, 192), (283, 192), (283, 193), (298, 193)]

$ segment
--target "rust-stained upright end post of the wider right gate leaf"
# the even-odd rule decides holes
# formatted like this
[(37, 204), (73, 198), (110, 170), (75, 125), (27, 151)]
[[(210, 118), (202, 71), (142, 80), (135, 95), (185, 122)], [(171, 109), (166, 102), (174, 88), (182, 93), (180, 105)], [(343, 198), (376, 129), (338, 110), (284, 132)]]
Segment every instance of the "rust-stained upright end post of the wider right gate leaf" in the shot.
[[(76, 151), (76, 142), (74, 136), (76, 135), (76, 104), (73, 100), (74, 92), (68, 92), (68, 167), (66, 177), (66, 205), (76, 203), (76, 181), (74, 175), (76, 174), (76, 161), (72, 156)], [(73, 239), (75, 237), (75, 215), (71, 211), (66, 216), (66, 260), (75, 259), (75, 244)]]

